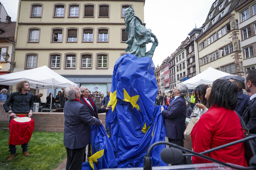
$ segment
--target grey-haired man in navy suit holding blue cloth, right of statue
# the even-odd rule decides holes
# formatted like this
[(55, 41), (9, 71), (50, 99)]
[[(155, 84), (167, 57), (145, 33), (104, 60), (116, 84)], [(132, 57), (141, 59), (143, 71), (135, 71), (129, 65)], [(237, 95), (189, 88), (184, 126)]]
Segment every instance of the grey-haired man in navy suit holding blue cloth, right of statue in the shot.
[[(188, 93), (188, 87), (183, 84), (178, 84), (174, 87), (174, 100), (168, 106), (165, 111), (163, 106), (161, 107), (161, 114), (164, 118), (166, 136), (168, 141), (179, 146), (184, 147), (184, 131), (186, 129), (186, 113), (187, 106), (184, 96)], [(178, 165), (186, 164), (186, 157), (183, 157), (183, 162), (179, 162)]]

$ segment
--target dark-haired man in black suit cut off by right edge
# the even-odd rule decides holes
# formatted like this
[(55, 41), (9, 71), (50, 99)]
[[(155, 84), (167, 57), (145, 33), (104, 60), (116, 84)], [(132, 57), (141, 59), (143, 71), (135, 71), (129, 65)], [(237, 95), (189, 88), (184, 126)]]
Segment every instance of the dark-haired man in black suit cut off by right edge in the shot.
[(250, 97), (247, 108), (244, 110), (242, 119), (249, 132), (256, 134), (256, 69), (247, 71), (244, 85), (246, 91), (250, 92), (252, 96)]

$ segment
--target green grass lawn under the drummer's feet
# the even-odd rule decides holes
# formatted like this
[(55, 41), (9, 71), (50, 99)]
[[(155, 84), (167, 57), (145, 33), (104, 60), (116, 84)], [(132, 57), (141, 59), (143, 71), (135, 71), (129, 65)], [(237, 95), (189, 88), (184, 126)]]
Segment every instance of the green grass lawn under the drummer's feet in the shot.
[(67, 157), (63, 145), (63, 132), (34, 131), (28, 142), (30, 157), (21, 154), (21, 145), (16, 145), (16, 156), (6, 162), (10, 156), (9, 131), (0, 130), (0, 170), (52, 170)]

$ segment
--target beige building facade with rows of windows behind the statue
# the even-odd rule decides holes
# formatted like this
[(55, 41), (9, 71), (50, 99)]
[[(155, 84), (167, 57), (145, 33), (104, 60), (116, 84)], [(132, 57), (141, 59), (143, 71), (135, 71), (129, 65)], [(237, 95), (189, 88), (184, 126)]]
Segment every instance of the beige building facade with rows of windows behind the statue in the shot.
[(123, 13), (132, 6), (144, 22), (144, 0), (19, 3), (14, 72), (46, 65), (106, 95), (115, 61), (126, 53)]

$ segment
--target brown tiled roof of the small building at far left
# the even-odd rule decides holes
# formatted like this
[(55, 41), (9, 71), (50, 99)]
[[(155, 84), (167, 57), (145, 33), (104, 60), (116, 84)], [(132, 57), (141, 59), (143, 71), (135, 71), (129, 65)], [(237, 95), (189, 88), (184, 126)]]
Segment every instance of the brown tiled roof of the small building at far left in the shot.
[(12, 37), (14, 39), (16, 22), (0, 22), (0, 38)]

